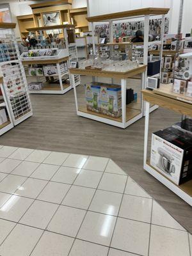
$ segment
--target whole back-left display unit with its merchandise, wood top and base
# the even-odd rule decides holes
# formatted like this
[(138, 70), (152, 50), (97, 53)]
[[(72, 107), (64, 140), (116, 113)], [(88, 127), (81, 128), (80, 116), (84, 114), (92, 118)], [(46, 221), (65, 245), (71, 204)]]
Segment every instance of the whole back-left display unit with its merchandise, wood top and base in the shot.
[[(30, 93), (64, 94), (80, 83), (80, 77), (71, 79), (68, 72), (77, 62), (77, 47), (73, 25), (29, 28), (34, 41), (20, 58), (26, 67)], [(52, 35), (50, 37), (50, 35)]]

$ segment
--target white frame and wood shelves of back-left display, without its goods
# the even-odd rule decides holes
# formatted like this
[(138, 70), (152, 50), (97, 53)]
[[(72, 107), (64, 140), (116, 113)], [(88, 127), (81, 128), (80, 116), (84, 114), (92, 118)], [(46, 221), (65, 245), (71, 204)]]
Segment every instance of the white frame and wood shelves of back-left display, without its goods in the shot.
[[(67, 72), (61, 72), (61, 64), (63, 61), (67, 61), (67, 66), (70, 67), (70, 63), (72, 61), (78, 61), (77, 58), (77, 47), (76, 47), (76, 38), (75, 38), (75, 29), (74, 25), (57, 25), (57, 26), (49, 26), (49, 27), (36, 27), (29, 28), (29, 33), (36, 33), (40, 31), (40, 35), (44, 35), (45, 31), (61, 29), (63, 33), (63, 37), (65, 38), (65, 48), (64, 49), (56, 49), (58, 54), (56, 56), (34, 56), (34, 57), (24, 57), (22, 54), (21, 59), (24, 65), (56, 65), (57, 74), (49, 77), (54, 77), (54, 79), (58, 78), (58, 83), (49, 83), (45, 81), (45, 77), (37, 77), (39, 81), (42, 81), (44, 84), (42, 90), (29, 90), (29, 93), (40, 93), (40, 94), (64, 94), (71, 90), (74, 87), (73, 80), (67, 70)], [(72, 32), (72, 33), (69, 33)], [(49, 49), (49, 48), (47, 48)], [(31, 51), (36, 51), (35, 49), (31, 49)], [(63, 77), (69, 77), (70, 83), (63, 83)], [(76, 76), (76, 86), (80, 84), (80, 77)]]

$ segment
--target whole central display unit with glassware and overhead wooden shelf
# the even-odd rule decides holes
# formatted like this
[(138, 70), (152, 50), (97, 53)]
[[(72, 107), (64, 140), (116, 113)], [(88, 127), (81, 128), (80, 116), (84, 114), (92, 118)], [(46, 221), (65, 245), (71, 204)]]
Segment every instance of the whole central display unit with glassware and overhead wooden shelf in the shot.
[[(164, 24), (164, 15), (168, 13), (168, 11), (168, 8), (143, 8), (138, 10), (109, 13), (108, 15), (99, 15), (87, 18), (87, 20), (91, 22), (92, 26), (93, 60), (90, 62), (84, 61), (84, 63), (79, 63), (79, 68), (70, 68), (70, 73), (74, 76), (77, 74), (89, 77), (91, 76), (93, 77), (93, 79), (90, 83), (90, 86), (89, 84), (85, 85), (86, 101), (84, 101), (83, 106), (79, 104), (81, 99), (79, 97), (79, 94), (77, 93), (76, 88), (74, 88), (77, 115), (97, 120), (99, 122), (104, 122), (106, 124), (115, 125), (121, 128), (128, 127), (144, 115), (145, 105), (143, 104), (143, 98), (141, 97), (141, 90), (146, 88), (147, 83), (149, 17), (150, 15), (162, 15), (162, 24)], [(109, 46), (109, 51), (111, 51), (111, 47), (120, 47), (124, 44), (131, 45), (129, 42), (113, 42), (113, 21), (115, 20), (116, 22), (117, 20), (134, 19), (136, 16), (144, 17), (145, 31), (144, 42), (142, 43), (143, 65), (139, 65), (137, 60), (130, 61), (128, 56), (125, 58), (124, 61), (115, 60), (114, 58), (112, 60), (106, 61), (99, 60), (100, 57), (98, 54), (96, 54), (97, 44), (95, 44), (94, 40), (95, 31), (93, 22), (109, 22), (109, 45), (107, 46)], [(161, 40), (163, 40), (164, 26), (161, 27)], [(161, 45), (163, 45), (162, 42)], [(94, 59), (95, 56), (96, 58)], [(124, 68), (125, 66), (127, 69)], [(98, 78), (100, 77), (102, 77), (102, 79), (103, 77), (108, 77), (107, 84), (99, 83), (100, 79)], [(131, 81), (132, 78), (134, 80), (137, 79), (140, 86), (136, 86), (136, 84)], [(111, 79), (111, 83), (109, 82), (109, 79)], [(102, 82), (105, 81), (106, 79), (102, 80)], [(132, 83), (131, 88), (128, 87), (130, 82)], [(116, 85), (116, 83), (118, 85)], [(98, 86), (98, 88), (96, 88), (97, 92), (95, 92), (95, 86)], [(108, 93), (106, 92), (106, 100), (103, 100), (102, 97), (104, 98), (105, 96), (102, 95), (102, 93), (104, 93), (105, 88), (107, 88)], [(119, 91), (115, 96), (112, 95), (112, 93), (109, 93), (109, 91), (113, 90), (113, 88)], [(130, 93), (133, 92), (131, 102), (129, 101), (128, 91)], [(117, 103), (115, 103), (116, 97), (118, 98)], [(116, 115), (116, 112), (114, 110), (116, 109), (116, 106), (118, 106), (117, 113), (119, 115)], [(156, 108), (158, 108), (158, 106), (151, 106), (150, 111), (153, 111)]]

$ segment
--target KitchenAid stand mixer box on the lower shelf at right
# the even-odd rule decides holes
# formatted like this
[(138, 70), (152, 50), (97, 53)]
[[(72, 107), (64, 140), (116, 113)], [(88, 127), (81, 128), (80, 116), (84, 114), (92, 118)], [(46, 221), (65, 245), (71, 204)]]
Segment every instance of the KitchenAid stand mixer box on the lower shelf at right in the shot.
[(154, 132), (150, 164), (180, 185), (192, 179), (192, 145), (166, 130)]

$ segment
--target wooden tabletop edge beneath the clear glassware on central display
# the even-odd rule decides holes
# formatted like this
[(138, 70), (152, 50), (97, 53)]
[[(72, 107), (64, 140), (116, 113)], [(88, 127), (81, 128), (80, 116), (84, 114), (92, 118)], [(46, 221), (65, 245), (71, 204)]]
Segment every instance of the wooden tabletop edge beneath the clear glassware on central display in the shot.
[(70, 74), (86, 75), (86, 76), (97, 76), (97, 77), (116, 77), (116, 78), (128, 78), (136, 76), (141, 72), (144, 72), (147, 65), (140, 65), (138, 68), (134, 68), (127, 72), (113, 72), (105, 70), (90, 70), (81, 68), (70, 68)]

